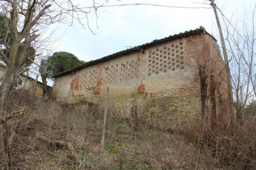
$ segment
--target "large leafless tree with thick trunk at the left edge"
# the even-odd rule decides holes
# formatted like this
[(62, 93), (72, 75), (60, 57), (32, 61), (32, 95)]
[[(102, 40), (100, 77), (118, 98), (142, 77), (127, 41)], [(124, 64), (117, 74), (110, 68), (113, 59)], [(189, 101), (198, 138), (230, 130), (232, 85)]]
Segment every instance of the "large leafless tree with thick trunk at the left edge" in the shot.
[[(92, 1), (93, 6), (95, 2)], [(91, 8), (90, 8), (91, 9)], [(90, 10), (88, 9), (88, 10)], [(96, 12), (96, 10), (95, 10)], [(44, 33), (53, 23), (77, 20), (84, 28), (89, 28), (88, 14), (71, 0), (1, 0), (0, 1), (0, 60), (6, 64), (6, 75), (1, 91), (1, 134), (4, 145), (6, 168), (10, 169), (7, 120), (9, 96), (17, 78), (29, 70), (29, 65), (39, 57), (38, 51), (46, 43)], [(84, 23), (83, 23), (84, 21)], [(44, 35), (44, 36), (43, 36)], [(33, 49), (33, 53), (29, 53)], [(37, 52), (37, 53), (36, 53)], [(35, 63), (36, 64), (36, 63)], [(38, 64), (37, 64), (38, 65)], [(8, 117), (8, 118), (6, 118)]]

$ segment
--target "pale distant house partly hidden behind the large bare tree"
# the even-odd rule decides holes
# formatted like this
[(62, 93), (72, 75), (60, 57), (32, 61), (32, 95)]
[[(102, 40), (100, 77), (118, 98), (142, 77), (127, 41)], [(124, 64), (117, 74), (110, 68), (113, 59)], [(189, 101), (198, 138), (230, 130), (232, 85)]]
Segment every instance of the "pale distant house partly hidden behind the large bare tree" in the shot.
[[(3, 80), (5, 78), (5, 72), (6, 72), (6, 66), (3, 64), (0, 64), (0, 86), (3, 85)], [(35, 80), (27, 75), (22, 75), (18, 78), (16, 83), (14, 83), (14, 89), (24, 89), (28, 91), (32, 91), (33, 86), (34, 86)], [(41, 82), (37, 81), (34, 89), (34, 93), (36, 96), (39, 98), (42, 98), (43, 96), (43, 91), (44, 91), (44, 86), (42, 85)]]

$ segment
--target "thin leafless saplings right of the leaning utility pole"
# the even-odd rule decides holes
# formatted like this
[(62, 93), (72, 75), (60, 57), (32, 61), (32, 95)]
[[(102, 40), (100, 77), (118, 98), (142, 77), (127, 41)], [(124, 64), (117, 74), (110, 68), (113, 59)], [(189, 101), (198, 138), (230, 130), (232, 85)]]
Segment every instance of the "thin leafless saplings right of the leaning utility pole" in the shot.
[(237, 118), (242, 118), (244, 108), (255, 96), (256, 87), (256, 35), (255, 35), (256, 3), (247, 11), (244, 18), (223, 20), (228, 43), (228, 54), (232, 59), (231, 77), (236, 103)]

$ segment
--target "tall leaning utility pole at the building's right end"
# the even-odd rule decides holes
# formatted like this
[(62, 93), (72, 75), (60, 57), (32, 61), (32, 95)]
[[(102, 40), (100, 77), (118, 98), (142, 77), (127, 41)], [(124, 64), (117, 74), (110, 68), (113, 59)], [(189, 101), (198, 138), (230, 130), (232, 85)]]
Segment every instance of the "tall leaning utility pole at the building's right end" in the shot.
[(233, 92), (232, 92), (231, 76), (230, 76), (230, 69), (229, 69), (228, 58), (227, 58), (226, 45), (225, 45), (225, 41), (224, 41), (222, 29), (221, 29), (220, 19), (218, 17), (217, 10), (216, 10), (216, 4), (214, 3), (215, 0), (209, 0), (209, 1), (211, 2), (210, 5), (214, 9), (215, 18), (216, 18), (217, 26), (218, 26), (219, 33), (220, 33), (223, 57), (224, 57), (224, 61), (225, 61), (225, 64), (226, 64), (228, 98), (230, 100), (229, 111), (230, 111), (230, 114), (231, 114), (231, 118), (233, 120), (233, 118), (234, 118), (234, 101), (233, 101)]

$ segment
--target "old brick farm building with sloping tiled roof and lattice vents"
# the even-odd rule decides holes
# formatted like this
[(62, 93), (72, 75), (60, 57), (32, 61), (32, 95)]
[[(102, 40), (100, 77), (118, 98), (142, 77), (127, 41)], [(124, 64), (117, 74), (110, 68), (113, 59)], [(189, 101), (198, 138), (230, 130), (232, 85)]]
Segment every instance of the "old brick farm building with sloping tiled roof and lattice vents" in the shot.
[(53, 97), (97, 104), (109, 87), (115, 114), (130, 116), (137, 105), (139, 117), (148, 123), (183, 127), (200, 117), (205, 99), (214, 117), (227, 113), (224, 67), (216, 39), (203, 29), (190, 30), (61, 72)]

